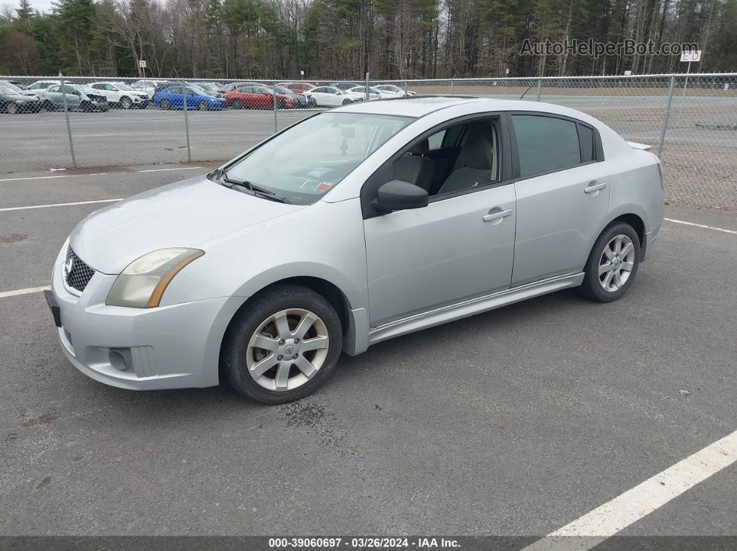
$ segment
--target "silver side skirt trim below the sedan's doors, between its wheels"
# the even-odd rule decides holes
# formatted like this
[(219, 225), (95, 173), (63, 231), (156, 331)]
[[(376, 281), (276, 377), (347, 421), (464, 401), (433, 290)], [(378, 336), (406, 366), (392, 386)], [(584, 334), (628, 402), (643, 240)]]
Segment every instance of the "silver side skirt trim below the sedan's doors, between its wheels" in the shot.
[(464, 300), (464, 302), (458, 302), (454, 305), (443, 306), (428, 312), (414, 314), (407, 318), (390, 321), (369, 331), (368, 345), (370, 346), (371, 344), (377, 344), (390, 338), (427, 329), (427, 327), (434, 327), (447, 323), (448, 321), (455, 321), (456, 319), (495, 310), (496, 308), (514, 304), (514, 302), (531, 299), (534, 296), (560, 291), (561, 289), (578, 287), (583, 280), (583, 272), (551, 277), (547, 280), (528, 283), (527, 285), (506, 289), (505, 291), (499, 291), (486, 296), (478, 296), (475, 299)]

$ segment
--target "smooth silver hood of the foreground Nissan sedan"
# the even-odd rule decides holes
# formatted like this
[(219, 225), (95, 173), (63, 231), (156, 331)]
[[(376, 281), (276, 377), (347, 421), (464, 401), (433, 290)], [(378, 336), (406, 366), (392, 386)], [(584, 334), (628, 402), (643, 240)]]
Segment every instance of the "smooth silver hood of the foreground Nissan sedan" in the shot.
[(84, 218), (71, 248), (104, 274), (119, 274), (136, 258), (167, 247), (200, 243), (304, 208), (284, 205), (195, 177), (139, 193)]

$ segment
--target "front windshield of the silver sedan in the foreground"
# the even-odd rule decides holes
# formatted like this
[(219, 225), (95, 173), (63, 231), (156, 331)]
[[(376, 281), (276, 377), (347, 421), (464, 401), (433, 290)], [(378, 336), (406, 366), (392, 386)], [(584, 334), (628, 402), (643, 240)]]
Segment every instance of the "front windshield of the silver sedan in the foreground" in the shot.
[(321, 113), (226, 167), (228, 179), (251, 182), (285, 196), (292, 204), (310, 205), (412, 120)]

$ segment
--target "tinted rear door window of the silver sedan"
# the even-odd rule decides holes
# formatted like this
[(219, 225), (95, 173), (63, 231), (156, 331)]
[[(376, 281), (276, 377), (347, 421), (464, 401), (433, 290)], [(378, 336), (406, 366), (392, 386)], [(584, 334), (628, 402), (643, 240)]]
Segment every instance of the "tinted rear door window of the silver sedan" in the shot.
[(581, 163), (581, 144), (576, 123), (545, 115), (511, 115), (520, 177), (552, 172)]

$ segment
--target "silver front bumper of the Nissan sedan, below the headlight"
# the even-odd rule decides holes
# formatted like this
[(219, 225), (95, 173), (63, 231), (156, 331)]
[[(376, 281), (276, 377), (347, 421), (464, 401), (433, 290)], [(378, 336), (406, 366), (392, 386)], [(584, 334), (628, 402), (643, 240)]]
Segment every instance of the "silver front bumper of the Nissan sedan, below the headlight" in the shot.
[(108, 306), (115, 278), (97, 272), (76, 294), (63, 281), (63, 255), (57, 259), (49, 306), (58, 307), (59, 341), (72, 365), (100, 383), (131, 390), (217, 385), (223, 334), (245, 299)]

